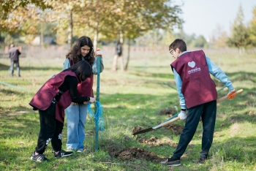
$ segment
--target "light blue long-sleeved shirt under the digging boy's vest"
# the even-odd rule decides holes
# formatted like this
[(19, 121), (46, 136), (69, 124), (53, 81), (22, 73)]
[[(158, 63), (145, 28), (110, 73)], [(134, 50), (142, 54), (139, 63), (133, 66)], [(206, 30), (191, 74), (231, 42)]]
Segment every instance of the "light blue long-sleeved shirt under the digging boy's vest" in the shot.
[[(188, 53), (188, 52), (190, 52), (190, 51), (184, 51), (183, 53), (181, 53), (181, 55), (183, 55), (184, 53)], [(178, 57), (180, 57), (181, 55), (179, 55)], [(214, 62), (211, 61), (211, 59), (208, 58), (207, 56), (206, 56), (206, 63), (208, 65), (208, 69), (209, 69), (209, 72), (211, 73), (211, 75), (213, 75), (218, 80), (220, 80), (228, 88), (229, 91), (234, 89), (232, 86), (232, 82), (227, 77), (225, 72), (223, 72), (222, 69), (220, 69), (219, 66), (214, 64)], [(181, 92), (181, 86), (182, 86), (181, 76), (178, 75), (178, 72), (176, 72), (176, 70), (174, 68), (173, 68), (173, 73), (174, 73), (174, 80), (175, 80), (176, 86), (177, 86), (178, 97), (180, 99), (179, 102), (181, 105), (181, 109), (187, 109), (184, 95)]]

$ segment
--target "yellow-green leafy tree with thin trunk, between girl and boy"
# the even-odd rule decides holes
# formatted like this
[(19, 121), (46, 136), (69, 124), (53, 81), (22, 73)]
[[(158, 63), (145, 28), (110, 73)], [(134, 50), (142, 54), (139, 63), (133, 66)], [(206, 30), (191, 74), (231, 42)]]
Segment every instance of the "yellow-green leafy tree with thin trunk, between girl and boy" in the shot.
[[(171, 31), (175, 26), (181, 26), (183, 23), (183, 20), (179, 18), (180, 6), (173, 5), (173, 2), (168, 0), (121, 0), (116, 3), (116, 9), (113, 9), (113, 13), (115, 18), (114, 33), (121, 33), (124, 39), (129, 39), (128, 42), (148, 31), (157, 29)], [(128, 63), (129, 50), (125, 69), (127, 69)]]

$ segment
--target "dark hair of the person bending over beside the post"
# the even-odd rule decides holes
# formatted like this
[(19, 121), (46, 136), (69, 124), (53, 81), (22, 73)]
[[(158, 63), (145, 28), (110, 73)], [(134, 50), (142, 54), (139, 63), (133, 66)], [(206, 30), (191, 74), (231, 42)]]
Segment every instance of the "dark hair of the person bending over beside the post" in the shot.
[(78, 77), (79, 81), (84, 81), (86, 78), (91, 77), (92, 75), (91, 65), (87, 61), (78, 61), (64, 71), (68, 70), (75, 72), (75, 75)]

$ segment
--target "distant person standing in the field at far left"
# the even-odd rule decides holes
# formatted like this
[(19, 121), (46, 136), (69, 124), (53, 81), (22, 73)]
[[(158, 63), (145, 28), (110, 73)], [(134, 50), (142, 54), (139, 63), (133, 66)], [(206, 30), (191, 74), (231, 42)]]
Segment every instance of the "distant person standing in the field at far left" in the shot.
[(20, 64), (19, 64), (19, 56), (20, 56), (20, 50), (18, 50), (18, 48), (15, 47), (15, 45), (12, 43), (10, 45), (10, 50), (9, 50), (9, 58), (11, 60), (11, 77), (13, 77), (13, 68), (14, 68), (14, 64), (16, 65), (17, 68), (17, 75), (18, 77), (20, 77)]

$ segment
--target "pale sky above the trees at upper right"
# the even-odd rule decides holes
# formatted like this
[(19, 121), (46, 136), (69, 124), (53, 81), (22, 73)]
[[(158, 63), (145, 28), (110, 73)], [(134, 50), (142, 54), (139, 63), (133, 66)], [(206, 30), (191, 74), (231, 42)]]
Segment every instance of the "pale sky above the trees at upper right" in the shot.
[[(236, 19), (241, 4), (244, 12), (244, 23), (252, 20), (252, 10), (256, 0), (183, 0), (181, 7), (184, 19), (184, 32), (186, 34), (203, 35), (210, 39), (219, 25), (223, 31), (230, 35), (230, 27)], [(177, 1), (176, 1), (177, 2)], [(179, 1), (180, 2), (180, 1)]]

